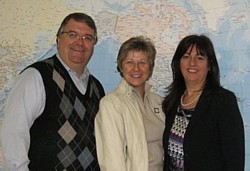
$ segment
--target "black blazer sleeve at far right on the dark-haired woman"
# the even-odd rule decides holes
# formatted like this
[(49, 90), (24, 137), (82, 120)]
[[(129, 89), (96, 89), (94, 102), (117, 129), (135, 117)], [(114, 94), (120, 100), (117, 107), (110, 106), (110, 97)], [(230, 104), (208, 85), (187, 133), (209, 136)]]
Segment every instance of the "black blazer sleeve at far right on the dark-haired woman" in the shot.
[(221, 150), (227, 171), (244, 171), (244, 124), (232, 92), (220, 94), (218, 106)]

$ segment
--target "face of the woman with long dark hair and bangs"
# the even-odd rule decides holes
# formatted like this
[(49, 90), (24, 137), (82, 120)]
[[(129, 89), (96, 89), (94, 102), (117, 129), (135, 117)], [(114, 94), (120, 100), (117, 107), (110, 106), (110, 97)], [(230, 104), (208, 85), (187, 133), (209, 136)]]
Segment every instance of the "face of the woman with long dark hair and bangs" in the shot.
[(200, 55), (196, 45), (190, 46), (182, 56), (180, 68), (186, 85), (202, 88), (209, 71), (207, 56)]

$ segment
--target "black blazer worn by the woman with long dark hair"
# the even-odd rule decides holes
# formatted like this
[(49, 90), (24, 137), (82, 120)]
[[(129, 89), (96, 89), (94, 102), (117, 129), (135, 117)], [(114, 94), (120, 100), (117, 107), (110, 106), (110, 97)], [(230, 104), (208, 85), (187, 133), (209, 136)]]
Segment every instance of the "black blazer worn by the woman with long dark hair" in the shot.
[[(168, 139), (179, 102), (166, 113), (163, 144), (164, 171), (168, 171)], [(221, 88), (203, 91), (184, 137), (185, 171), (243, 171), (244, 126), (237, 100)]]

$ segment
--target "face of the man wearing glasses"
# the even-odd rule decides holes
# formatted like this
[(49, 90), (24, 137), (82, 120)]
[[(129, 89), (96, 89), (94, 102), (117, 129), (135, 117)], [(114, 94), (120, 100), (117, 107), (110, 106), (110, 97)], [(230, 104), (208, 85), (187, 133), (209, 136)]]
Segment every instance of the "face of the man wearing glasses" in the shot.
[(57, 37), (58, 53), (65, 64), (78, 75), (88, 64), (95, 44), (95, 33), (84, 22), (70, 19)]

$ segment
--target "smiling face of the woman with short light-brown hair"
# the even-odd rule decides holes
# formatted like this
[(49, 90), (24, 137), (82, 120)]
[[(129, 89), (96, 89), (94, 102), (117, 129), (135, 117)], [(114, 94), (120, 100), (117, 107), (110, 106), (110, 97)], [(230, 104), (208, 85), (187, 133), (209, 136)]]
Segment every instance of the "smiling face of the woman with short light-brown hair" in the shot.
[(122, 62), (123, 78), (139, 92), (144, 93), (145, 82), (151, 75), (149, 59), (143, 51), (128, 52)]

